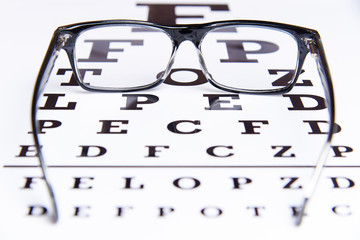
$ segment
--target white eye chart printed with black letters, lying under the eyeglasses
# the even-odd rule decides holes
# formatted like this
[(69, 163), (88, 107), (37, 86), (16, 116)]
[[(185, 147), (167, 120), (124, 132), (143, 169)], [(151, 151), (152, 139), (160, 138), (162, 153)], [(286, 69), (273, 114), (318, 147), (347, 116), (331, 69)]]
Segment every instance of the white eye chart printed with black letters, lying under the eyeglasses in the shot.
[[(6, 58), (1, 65), (6, 67), (0, 239), (359, 238), (354, 100), (359, 87), (354, 70), (359, 64), (359, 4), (309, 1), (295, 11), (282, 1), (79, 1), (57, 6), (58, 13), (50, 5), (14, 1), (8, 8), (18, 19), (10, 12), (2, 16), (13, 22), (5, 26), (1, 40)], [(312, 9), (321, 9), (320, 19)], [(48, 21), (30, 18), (40, 12)], [(336, 22), (331, 13), (340, 16), (343, 22), (336, 26), (346, 34), (331, 28)], [(307, 57), (288, 93), (235, 94), (206, 81), (197, 50), (188, 42), (180, 46), (163, 84), (129, 93), (83, 90), (65, 52), (60, 53), (38, 111), (40, 142), (59, 204), (59, 222), (50, 221), (50, 198), (30, 127), (36, 74), (56, 27), (99, 19), (160, 24), (258, 19), (319, 31), (333, 77), (336, 131), (301, 226), (295, 225), (295, 214), (329, 119), (314, 59)], [(344, 38), (346, 44), (340, 44)], [(146, 47), (149, 39), (143, 35), (141, 40), (144, 46), (139, 47)], [(108, 44), (105, 58), (117, 58), (131, 48), (116, 45), (114, 39)], [(231, 59), (229, 44), (222, 46), (219, 54)], [(121, 53), (111, 51), (120, 47)], [(155, 54), (149, 66), (157, 67), (156, 59)], [(268, 70), (278, 85), (292, 74), (291, 69)], [(98, 69), (82, 71), (88, 79), (102, 77)], [(141, 66), (133, 71), (142, 71)]]

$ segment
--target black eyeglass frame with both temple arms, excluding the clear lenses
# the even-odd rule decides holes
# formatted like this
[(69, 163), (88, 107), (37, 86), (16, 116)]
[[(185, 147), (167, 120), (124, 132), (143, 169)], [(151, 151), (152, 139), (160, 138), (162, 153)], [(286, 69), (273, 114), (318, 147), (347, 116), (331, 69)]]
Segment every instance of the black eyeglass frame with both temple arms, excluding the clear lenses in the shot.
[[(122, 25), (122, 26), (134, 26), (134, 27), (151, 27), (159, 29), (163, 32), (165, 32), (173, 43), (173, 52), (169, 61), (169, 64), (167, 66), (167, 69), (164, 71), (164, 74), (161, 78), (159, 78), (156, 82), (152, 84), (148, 84), (142, 87), (135, 87), (135, 88), (129, 88), (129, 89), (103, 89), (99, 87), (89, 87), (85, 85), (81, 79), (80, 74), (77, 71), (76, 63), (75, 63), (75, 55), (74, 55), (74, 47), (76, 43), (77, 37), (86, 30), (89, 30), (91, 28), (99, 28), (103, 26), (111, 26), (111, 25)], [(292, 82), (288, 84), (287, 86), (280, 88), (280, 89), (272, 89), (272, 90), (243, 90), (243, 89), (234, 89), (229, 88), (227, 86), (223, 86), (221, 84), (218, 84), (216, 81), (214, 81), (210, 74), (207, 72), (206, 67), (204, 65), (204, 60), (201, 56), (201, 41), (204, 38), (204, 36), (212, 30), (216, 30), (218, 28), (223, 27), (232, 27), (232, 26), (253, 26), (253, 27), (263, 27), (263, 28), (270, 28), (270, 29), (276, 29), (283, 32), (286, 32), (290, 34), (297, 42), (298, 45), (298, 60), (297, 60), (297, 67), (295, 69), (295, 74)], [(72, 70), (74, 72), (75, 78), (83, 89), (88, 91), (99, 91), (99, 92), (129, 92), (129, 91), (139, 91), (139, 90), (146, 90), (153, 88), (159, 84), (161, 84), (167, 77), (167, 75), (170, 73), (171, 66), (175, 57), (176, 50), (180, 46), (180, 44), (184, 41), (191, 41), (194, 43), (194, 45), (199, 50), (199, 60), (200, 65), (202, 66), (202, 70), (204, 72), (204, 75), (207, 77), (208, 81), (215, 87), (229, 92), (235, 92), (235, 93), (253, 93), (253, 94), (281, 94), (286, 93), (290, 91), (296, 84), (296, 81), (300, 75), (302, 66), (304, 64), (305, 58), (308, 55), (308, 53), (311, 53), (315, 57), (315, 60), (317, 62), (317, 67), (319, 71), (319, 75), (323, 84), (323, 87), (325, 89), (325, 97), (326, 97), (326, 104), (329, 111), (329, 131), (326, 143), (322, 149), (321, 156), (315, 166), (315, 171), (313, 174), (313, 179), (311, 181), (311, 186), (309, 187), (308, 194), (305, 194), (304, 197), (304, 204), (299, 212), (299, 220), (298, 224), (300, 224), (301, 219), (304, 215), (304, 209), (307, 201), (310, 199), (317, 181), (319, 180), (321, 170), (323, 169), (325, 165), (325, 161), (327, 158), (327, 152), (330, 147), (331, 139), (333, 136), (333, 132), (335, 129), (335, 100), (334, 100), (334, 90), (330, 75), (329, 66), (325, 57), (325, 51), (324, 47), (320, 38), (319, 33), (316, 30), (303, 28), (299, 26), (293, 26), (283, 23), (276, 23), (276, 22), (267, 22), (267, 21), (256, 21), (256, 20), (230, 20), (230, 21), (218, 21), (218, 22), (210, 22), (210, 23), (204, 23), (204, 24), (189, 24), (189, 25), (160, 25), (156, 23), (151, 22), (145, 22), (145, 21), (138, 21), (138, 20), (106, 20), (106, 21), (93, 21), (93, 22), (83, 22), (83, 23), (77, 23), (77, 24), (71, 24), (59, 27), (55, 30), (50, 45), (48, 47), (48, 50), (46, 52), (45, 58), (43, 60), (43, 63), (41, 65), (32, 99), (32, 105), (31, 105), (31, 125), (32, 125), (32, 132), (33, 132), (33, 138), (35, 142), (35, 147), (37, 150), (37, 156), (39, 158), (39, 164), (42, 169), (42, 173), (44, 176), (44, 180), (46, 182), (48, 191), (51, 196), (52, 200), (52, 206), (54, 209), (53, 214), (53, 220), (56, 222), (58, 220), (58, 210), (57, 210), (57, 203), (55, 200), (55, 195), (53, 188), (51, 186), (51, 183), (48, 179), (47, 174), (47, 166), (42, 154), (41, 145), (38, 137), (39, 132), (39, 126), (36, 118), (37, 113), (37, 103), (38, 99), (40, 98), (40, 95), (43, 92), (43, 89), (45, 87), (46, 82), (49, 80), (50, 73), (52, 68), (54, 67), (55, 60), (60, 52), (61, 49), (65, 50)]]

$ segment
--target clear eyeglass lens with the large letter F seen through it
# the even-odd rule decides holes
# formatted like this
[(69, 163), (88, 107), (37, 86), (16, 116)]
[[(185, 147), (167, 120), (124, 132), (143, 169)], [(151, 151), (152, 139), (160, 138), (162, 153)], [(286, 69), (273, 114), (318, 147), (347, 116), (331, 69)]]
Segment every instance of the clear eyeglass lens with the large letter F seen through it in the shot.
[[(75, 44), (79, 80), (100, 90), (136, 90), (156, 83), (171, 58), (172, 41), (160, 29), (140, 25), (92, 28)], [(87, 74), (91, 70), (93, 74)], [(160, 76), (161, 78), (161, 76)]]

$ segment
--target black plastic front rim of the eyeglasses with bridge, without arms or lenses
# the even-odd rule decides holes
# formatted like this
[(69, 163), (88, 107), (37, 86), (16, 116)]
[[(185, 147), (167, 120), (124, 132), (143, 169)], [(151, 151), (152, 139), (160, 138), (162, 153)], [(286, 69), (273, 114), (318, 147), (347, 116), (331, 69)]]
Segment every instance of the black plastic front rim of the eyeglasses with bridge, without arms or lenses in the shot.
[[(101, 28), (103, 26), (117, 26), (117, 25), (123, 25), (123, 26), (135, 26), (135, 27), (151, 27), (156, 28), (165, 34), (167, 34), (173, 44), (173, 52), (170, 56), (168, 65), (166, 69), (164, 70), (164, 76), (162, 78), (157, 79), (157, 81), (154, 81), (153, 83), (139, 86), (139, 87), (131, 87), (131, 88), (106, 88), (106, 87), (93, 87), (93, 86), (87, 86), (81, 81), (80, 73), (78, 72), (78, 68), (76, 66), (75, 62), (75, 53), (74, 53), (74, 46), (76, 43), (76, 39), (78, 36), (87, 30), (94, 29), (94, 28)], [(265, 27), (270, 29), (276, 29), (283, 31), (287, 34), (289, 34), (291, 37), (293, 37), (297, 43), (298, 46), (298, 58), (297, 58), (297, 64), (296, 64), (296, 71), (294, 74), (294, 77), (292, 79), (292, 82), (290, 82), (289, 85), (284, 86), (283, 88), (277, 88), (277, 89), (267, 89), (267, 90), (251, 90), (251, 89), (238, 89), (238, 88), (231, 88), (229, 86), (222, 85), (220, 83), (217, 83), (216, 80), (212, 79), (210, 77), (209, 72), (207, 71), (204, 61), (202, 59), (201, 54), (201, 42), (203, 38), (206, 36), (206, 34), (214, 29), (217, 28), (223, 28), (223, 27), (231, 27), (231, 26), (252, 26), (252, 27)], [(107, 21), (95, 21), (95, 22), (85, 22), (85, 23), (79, 23), (79, 24), (72, 24), (67, 25), (63, 27), (59, 27), (59, 34), (60, 35), (68, 35), (70, 36), (65, 45), (63, 46), (63, 49), (67, 52), (67, 55), (69, 57), (69, 61), (71, 63), (72, 69), (75, 72), (75, 77), (78, 82), (78, 84), (90, 91), (105, 91), (105, 92), (130, 92), (130, 91), (140, 91), (140, 90), (146, 90), (153, 88), (159, 84), (161, 84), (167, 75), (170, 73), (172, 63), (174, 60), (174, 57), (176, 55), (176, 51), (180, 44), (183, 41), (191, 41), (195, 47), (198, 49), (198, 55), (200, 60), (200, 66), (201, 69), (207, 78), (207, 80), (215, 87), (230, 91), (230, 92), (237, 92), (237, 93), (279, 93), (279, 92), (288, 92), (291, 90), (291, 88), (295, 85), (295, 82), (297, 80), (297, 77), (299, 76), (301, 67), (304, 63), (305, 57), (308, 53), (307, 47), (304, 45), (304, 42), (302, 39), (309, 38), (316, 34), (317, 32), (311, 29), (306, 29), (302, 27), (287, 25), (287, 24), (281, 24), (281, 23), (274, 23), (274, 22), (265, 22), (265, 21), (219, 21), (219, 22), (212, 22), (212, 23), (204, 23), (204, 24), (191, 24), (191, 25), (176, 25), (176, 26), (169, 26), (169, 25), (160, 25), (156, 23), (150, 23), (150, 22), (144, 22), (144, 21), (137, 21), (137, 20), (107, 20)]]

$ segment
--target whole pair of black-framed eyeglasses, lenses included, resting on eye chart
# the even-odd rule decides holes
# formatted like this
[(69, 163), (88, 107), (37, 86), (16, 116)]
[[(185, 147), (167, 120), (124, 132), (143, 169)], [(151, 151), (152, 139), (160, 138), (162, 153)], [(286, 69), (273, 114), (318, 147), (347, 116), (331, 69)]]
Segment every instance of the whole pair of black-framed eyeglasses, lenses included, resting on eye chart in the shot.
[[(334, 93), (320, 35), (298, 26), (265, 21), (220, 21), (165, 26), (144, 21), (109, 20), (59, 27), (42, 63), (32, 100), (32, 128), (40, 167), (58, 220), (57, 203), (38, 137), (38, 100), (61, 49), (68, 55), (77, 83), (85, 90), (129, 92), (150, 89), (166, 79), (181, 43), (197, 48), (200, 66), (209, 83), (235, 93), (281, 94), (290, 91), (308, 53), (314, 56), (329, 111), (329, 131), (304, 202), (297, 214), (301, 223), (327, 159), (334, 132)], [(150, 64), (151, 63), (151, 64)], [(274, 83), (269, 69), (290, 69), (291, 78)], [(86, 77), (83, 69), (98, 69), (101, 78)], [(135, 70), (135, 69), (141, 69)]]

